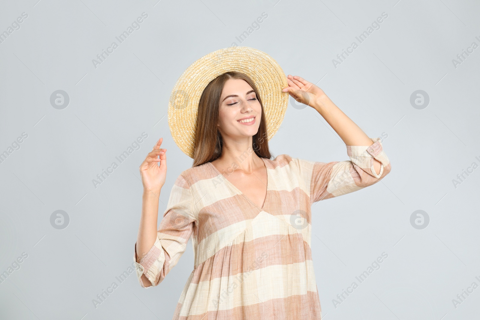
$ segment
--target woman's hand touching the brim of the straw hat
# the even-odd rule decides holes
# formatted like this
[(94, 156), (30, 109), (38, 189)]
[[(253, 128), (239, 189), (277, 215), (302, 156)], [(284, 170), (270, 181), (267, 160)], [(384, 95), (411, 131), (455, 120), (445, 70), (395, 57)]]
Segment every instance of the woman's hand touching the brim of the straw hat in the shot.
[(288, 92), (295, 100), (312, 108), (320, 105), (320, 98), (325, 97), (322, 89), (315, 84), (306, 81), (299, 76), (287, 76), (288, 87), (282, 89), (283, 92)]

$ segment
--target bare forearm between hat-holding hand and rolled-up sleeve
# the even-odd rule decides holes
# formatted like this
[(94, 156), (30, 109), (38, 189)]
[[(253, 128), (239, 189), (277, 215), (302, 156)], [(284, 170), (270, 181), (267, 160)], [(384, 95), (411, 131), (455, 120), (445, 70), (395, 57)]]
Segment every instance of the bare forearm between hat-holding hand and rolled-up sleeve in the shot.
[[(366, 145), (373, 144), (363, 130), (355, 122), (337, 107), (326, 95), (320, 97), (313, 105), (313, 108), (327, 121), (333, 130), (340, 136), (346, 145)], [(377, 174), (380, 173), (381, 163), (373, 159), (373, 168)]]

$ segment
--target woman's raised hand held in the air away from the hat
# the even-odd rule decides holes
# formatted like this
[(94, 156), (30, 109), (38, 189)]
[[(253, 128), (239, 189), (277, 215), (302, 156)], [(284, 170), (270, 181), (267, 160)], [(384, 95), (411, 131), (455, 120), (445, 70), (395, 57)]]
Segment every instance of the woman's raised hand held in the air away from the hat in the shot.
[[(160, 194), (160, 189), (165, 184), (167, 176), (167, 156), (165, 155), (167, 149), (160, 149), (162, 142), (163, 138), (160, 138), (140, 165), (140, 176), (144, 190), (152, 191), (157, 196)], [(160, 159), (157, 156), (160, 156)], [(157, 165), (158, 162), (160, 162), (160, 166)]]

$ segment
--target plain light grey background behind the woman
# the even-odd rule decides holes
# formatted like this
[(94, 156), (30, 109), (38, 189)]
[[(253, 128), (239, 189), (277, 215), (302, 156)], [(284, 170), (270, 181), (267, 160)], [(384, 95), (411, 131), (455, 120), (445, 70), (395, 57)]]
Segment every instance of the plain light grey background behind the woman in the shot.
[[(143, 289), (133, 261), (141, 214), (138, 167), (156, 140), (168, 149), (159, 213), (180, 172), (192, 165), (173, 142), (168, 98), (180, 74), (220, 48), (258, 48), (286, 74), (316, 83), (369, 137), (381, 137), (392, 172), (381, 182), (312, 208), (312, 256), (324, 319), (464, 320), (478, 317), (480, 288), (480, 3), (392, 1), (92, 1), (1, 2), (0, 32), (28, 17), (0, 43), (0, 273), (28, 255), (0, 284), (1, 319), (171, 319), (193, 268), (191, 242), (157, 287)], [(96, 68), (142, 12), (148, 17)], [(249, 27), (268, 17), (254, 30)], [(382, 15), (378, 30), (355, 37)], [(240, 42), (236, 37), (252, 31)], [(359, 45), (336, 67), (333, 59)], [(69, 105), (50, 95), (64, 90)], [(424, 90), (430, 103), (410, 104)], [(148, 137), (121, 164), (115, 158)], [(20, 139), (21, 140), (21, 139)], [(348, 160), (345, 144), (312, 108), (289, 106), (270, 141), (275, 154)], [(100, 185), (92, 180), (112, 162)], [(471, 170), (470, 170), (471, 171)], [(64, 210), (58, 230), (50, 216)], [(424, 210), (421, 230), (410, 215)], [(339, 305), (382, 252), (388, 258)], [(92, 302), (118, 287), (96, 308)], [(339, 301), (339, 300), (337, 300)], [(458, 300), (460, 301), (460, 300)]]

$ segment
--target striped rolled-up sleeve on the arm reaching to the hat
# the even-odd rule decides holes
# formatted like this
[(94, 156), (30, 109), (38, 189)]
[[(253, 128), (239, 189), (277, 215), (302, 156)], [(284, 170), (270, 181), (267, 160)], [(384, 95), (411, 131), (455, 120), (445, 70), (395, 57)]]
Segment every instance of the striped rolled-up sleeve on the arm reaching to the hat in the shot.
[[(347, 145), (350, 160), (318, 162), (298, 159), (300, 177), (305, 181), (311, 203), (338, 197), (371, 186), (391, 170), (380, 138), (369, 138), (370, 146)], [(373, 159), (380, 162), (380, 172), (373, 167)]]

